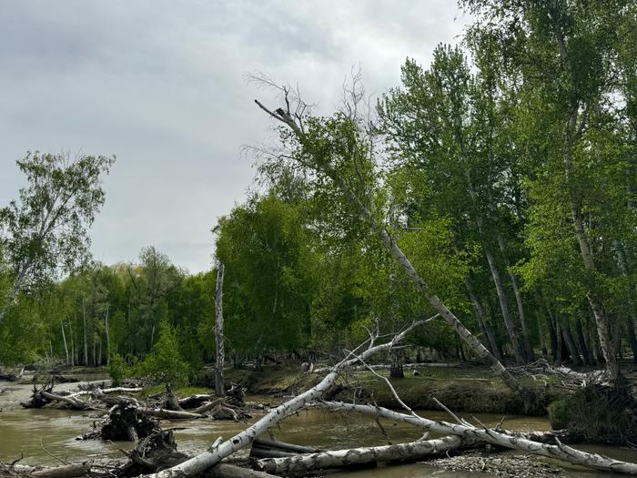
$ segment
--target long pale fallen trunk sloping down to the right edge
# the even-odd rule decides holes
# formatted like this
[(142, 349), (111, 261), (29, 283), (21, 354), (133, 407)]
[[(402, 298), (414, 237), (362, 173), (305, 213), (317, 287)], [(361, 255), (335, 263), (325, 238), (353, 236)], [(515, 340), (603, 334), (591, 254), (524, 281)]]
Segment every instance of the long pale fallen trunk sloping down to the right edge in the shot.
[(405, 413), (393, 412), (383, 407), (371, 405), (356, 405), (344, 402), (320, 402), (313, 406), (327, 408), (329, 410), (339, 410), (343, 412), (361, 412), (382, 418), (388, 418), (397, 422), (407, 422), (419, 426), (431, 432), (458, 435), (464, 438), (485, 442), (512, 450), (521, 450), (526, 453), (538, 454), (549, 458), (557, 458), (563, 462), (579, 464), (587, 468), (602, 470), (604, 472), (625, 473), (637, 475), (637, 463), (627, 463), (613, 460), (597, 453), (586, 453), (575, 450), (558, 442), (557, 445), (531, 442), (518, 436), (512, 436), (504, 432), (498, 432), (489, 428), (478, 428), (469, 422), (449, 423), (436, 422), (422, 418), (416, 414), (407, 415)]

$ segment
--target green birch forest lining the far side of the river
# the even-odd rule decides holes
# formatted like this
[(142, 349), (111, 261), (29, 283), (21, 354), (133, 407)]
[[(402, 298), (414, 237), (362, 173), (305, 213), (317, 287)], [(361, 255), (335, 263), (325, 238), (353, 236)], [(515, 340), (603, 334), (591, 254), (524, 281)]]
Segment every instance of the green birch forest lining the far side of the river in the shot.
[(430, 65), (406, 59), (379, 97), (354, 71), (318, 116), (311, 92), (251, 77), (276, 97), (254, 113), (278, 142), (249, 148), (255, 183), (210, 224), (207, 272), (154, 246), (91, 259), (115, 158), (17, 161), (25, 186), (0, 209), (0, 364), (196, 383), (216, 361), (223, 278), (233, 369), (341, 366), (370, 337), (422, 322), (392, 368), (486, 363), (526, 412), (539, 399), (513, 371), (542, 359), (625, 390), (637, 364), (637, 4), (460, 5), (476, 21), (458, 45), (437, 46)]

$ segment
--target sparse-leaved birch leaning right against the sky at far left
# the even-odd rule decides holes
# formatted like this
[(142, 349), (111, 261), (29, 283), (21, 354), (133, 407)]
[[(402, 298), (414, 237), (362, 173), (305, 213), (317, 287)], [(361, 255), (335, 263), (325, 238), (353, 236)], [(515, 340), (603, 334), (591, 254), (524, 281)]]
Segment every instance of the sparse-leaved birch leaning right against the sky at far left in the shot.
[(88, 229), (105, 201), (101, 180), (115, 158), (29, 152), (16, 161), (27, 185), (0, 208), (0, 241), (12, 283), (0, 323), (19, 292), (86, 264)]

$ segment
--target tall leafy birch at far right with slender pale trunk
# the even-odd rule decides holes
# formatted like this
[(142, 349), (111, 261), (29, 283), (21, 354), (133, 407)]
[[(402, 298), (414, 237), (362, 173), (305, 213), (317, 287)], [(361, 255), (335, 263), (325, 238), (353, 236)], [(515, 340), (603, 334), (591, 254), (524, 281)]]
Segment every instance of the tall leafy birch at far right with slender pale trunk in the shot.
[[(471, 35), (499, 39), (503, 61), (522, 85), (527, 117), (537, 118), (527, 126), (536, 129), (527, 145), (533, 148), (526, 149), (533, 153), (534, 218), (569, 225), (570, 238), (564, 240), (571, 239), (579, 255), (577, 278), (586, 290), (606, 369), (612, 381), (620, 381), (611, 313), (617, 273), (606, 251), (613, 236), (624, 236), (634, 225), (626, 196), (616, 188), (622, 184), (615, 179), (617, 172), (623, 174), (628, 165), (625, 143), (617, 134), (622, 100), (615, 98), (623, 96), (625, 77), (618, 55), (631, 41), (621, 32), (637, 25), (636, 5), (562, 0), (461, 4), (480, 15), (482, 25), (488, 22), (476, 25)], [(541, 223), (530, 227), (541, 230)]]

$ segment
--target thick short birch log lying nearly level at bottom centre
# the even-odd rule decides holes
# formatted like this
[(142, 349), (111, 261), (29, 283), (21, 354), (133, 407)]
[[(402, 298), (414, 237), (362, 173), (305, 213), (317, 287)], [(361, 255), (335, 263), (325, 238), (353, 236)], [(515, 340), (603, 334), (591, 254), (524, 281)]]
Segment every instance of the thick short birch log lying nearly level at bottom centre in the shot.
[(258, 470), (285, 474), (286, 476), (305, 476), (308, 472), (326, 468), (342, 468), (366, 463), (391, 462), (395, 460), (421, 460), (427, 456), (448, 453), (470, 443), (459, 436), (447, 436), (437, 440), (399, 443), (384, 446), (351, 448), (321, 453), (304, 453), (281, 458), (263, 458), (255, 467)]

